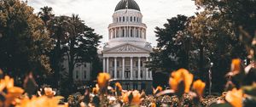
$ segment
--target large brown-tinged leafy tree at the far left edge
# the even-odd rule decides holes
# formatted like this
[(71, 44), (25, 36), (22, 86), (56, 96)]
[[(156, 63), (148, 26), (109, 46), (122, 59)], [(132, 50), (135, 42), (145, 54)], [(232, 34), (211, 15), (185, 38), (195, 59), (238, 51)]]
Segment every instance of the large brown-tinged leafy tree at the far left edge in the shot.
[(33, 14), (33, 8), (19, 0), (0, 2), (0, 68), (10, 76), (49, 72), (52, 48), (44, 22)]

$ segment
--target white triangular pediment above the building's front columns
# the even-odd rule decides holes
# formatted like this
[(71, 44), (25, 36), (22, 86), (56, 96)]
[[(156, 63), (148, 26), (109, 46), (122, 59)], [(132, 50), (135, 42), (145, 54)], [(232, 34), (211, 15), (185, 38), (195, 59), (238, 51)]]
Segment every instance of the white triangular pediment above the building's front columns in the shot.
[(126, 43), (113, 48), (108, 48), (103, 52), (105, 53), (150, 53), (150, 50)]

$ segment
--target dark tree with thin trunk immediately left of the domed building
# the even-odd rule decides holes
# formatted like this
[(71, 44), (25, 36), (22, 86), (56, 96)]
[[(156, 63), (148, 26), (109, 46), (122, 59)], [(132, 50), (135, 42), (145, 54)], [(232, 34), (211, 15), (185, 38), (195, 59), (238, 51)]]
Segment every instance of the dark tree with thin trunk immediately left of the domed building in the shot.
[(66, 44), (64, 45), (65, 55), (68, 61), (68, 80), (73, 84), (73, 69), (75, 65), (83, 65), (97, 59), (97, 46), (102, 36), (99, 36), (93, 29), (84, 25), (79, 15), (73, 14), (69, 18), (70, 31), (68, 32)]

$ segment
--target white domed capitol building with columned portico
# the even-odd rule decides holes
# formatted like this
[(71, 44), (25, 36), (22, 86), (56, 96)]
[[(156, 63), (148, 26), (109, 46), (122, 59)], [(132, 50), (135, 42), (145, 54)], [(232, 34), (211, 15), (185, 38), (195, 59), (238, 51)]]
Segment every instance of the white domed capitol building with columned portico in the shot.
[(147, 39), (147, 25), (143, 14), (134, 0), (121, 0), (108, 25), (108, 42), (102, 50), (103, 71), (108, 72), (113, 81), (120, 82), (124, 89), (150, 91), (152, 72), (145, 62), (152, 52)]

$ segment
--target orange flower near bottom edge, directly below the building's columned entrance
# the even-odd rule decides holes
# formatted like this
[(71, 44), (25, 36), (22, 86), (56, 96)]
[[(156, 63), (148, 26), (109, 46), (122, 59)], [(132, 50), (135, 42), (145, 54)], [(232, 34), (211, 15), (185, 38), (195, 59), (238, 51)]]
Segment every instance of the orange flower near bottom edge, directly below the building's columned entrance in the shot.
[(125, 104), (141, 104), (141, 94), (137, 90), (123, 93), (123, 101)]

